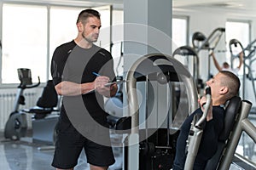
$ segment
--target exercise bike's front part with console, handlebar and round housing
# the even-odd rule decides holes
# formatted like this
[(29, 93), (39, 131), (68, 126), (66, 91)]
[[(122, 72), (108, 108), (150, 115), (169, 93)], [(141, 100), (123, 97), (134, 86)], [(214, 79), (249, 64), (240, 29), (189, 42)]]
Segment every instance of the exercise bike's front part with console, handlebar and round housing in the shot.
[(23, 92), (26, 88), (36, 88), (40, 85), (40, 78), (38, 83), (32, 83), (31, 70), (26, 68), (19, 68), (18, 77), (20, 85), (15, 98), (14, 110), (9, 116), (9, 120), (5, 124), (4, 137), (5, 139), (19, 140), (20, 137), (25, 137), (27, 129), (26, 113), (19, 111), (20, 105), (25, 105), (25, 97)]

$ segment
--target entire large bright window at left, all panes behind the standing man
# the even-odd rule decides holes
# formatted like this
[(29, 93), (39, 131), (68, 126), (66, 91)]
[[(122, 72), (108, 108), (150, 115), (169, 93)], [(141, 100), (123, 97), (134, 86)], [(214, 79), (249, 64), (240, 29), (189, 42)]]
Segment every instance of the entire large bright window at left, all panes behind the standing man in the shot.
[[(18, 68), (31, 69), (33, 82), (37, 82), (37, 77), (46, 82), (55, 48), (77, 36), (76, 20), (82, 9), (3, 3), (1, 84), (19, 83)], [(102, 31), (96, 44), (107, 50), (110, 9), (110, 6), (96, 8), (102, 14)]]

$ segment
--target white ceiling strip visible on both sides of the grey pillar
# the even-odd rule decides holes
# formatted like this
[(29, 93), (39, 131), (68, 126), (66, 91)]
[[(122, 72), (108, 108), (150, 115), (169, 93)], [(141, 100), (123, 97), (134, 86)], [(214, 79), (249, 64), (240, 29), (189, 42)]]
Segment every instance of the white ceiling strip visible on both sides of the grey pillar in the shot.
[[(7, 1), (7, 0), (0, 0)], [(11, 2), (9, 0), (7, 2)], [(123, 1), (125, 0), (13, 0), (15, 2), (32, 2), (32, 3), (50, 3), (50, 4), (67, 4), (79, 5), (83, 7), (96, 7), (102, 5), (113, 4), (113, 8), (123, 8)], [(128, 0), (127, 0), (128, 1)], [(174, 9), (224, 9), (224, 10), (238, 10), (240, 13), (255, 13), (256, 17), (256, 0), (172, 0), (172, 7)], [(255, 11), (255, 12), (254, 12)]]

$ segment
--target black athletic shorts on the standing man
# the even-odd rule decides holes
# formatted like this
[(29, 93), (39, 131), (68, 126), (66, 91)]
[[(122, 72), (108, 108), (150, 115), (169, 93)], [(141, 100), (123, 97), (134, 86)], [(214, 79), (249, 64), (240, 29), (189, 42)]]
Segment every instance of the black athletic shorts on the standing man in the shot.
[(98, 167), (108, 167), (114, 163), (110, 146), (96, 144), (84, 138), (70, 122), (58, 122), (55, 155), (52, 166), (61, 169), (75, 167), (84, 149), (87, 162)]

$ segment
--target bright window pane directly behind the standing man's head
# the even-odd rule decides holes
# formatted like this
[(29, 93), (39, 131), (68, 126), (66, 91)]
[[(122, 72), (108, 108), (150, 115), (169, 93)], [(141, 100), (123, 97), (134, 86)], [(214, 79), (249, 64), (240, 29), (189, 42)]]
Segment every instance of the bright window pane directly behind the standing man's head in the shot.
[[(49, 65), (55, 48), (72, 41), (78, 34), (76, 21), (84, 8), (51, 7), (49, 14)], [(109, 51), (110, 48), (110, 6), (94, 8), (101, 14), (102, 28), (96, 45)], [(65, 28), (65, 29), (63, 29)], [(50, 72), (49, 72), (49, 77)]]

